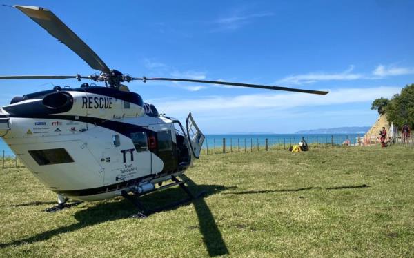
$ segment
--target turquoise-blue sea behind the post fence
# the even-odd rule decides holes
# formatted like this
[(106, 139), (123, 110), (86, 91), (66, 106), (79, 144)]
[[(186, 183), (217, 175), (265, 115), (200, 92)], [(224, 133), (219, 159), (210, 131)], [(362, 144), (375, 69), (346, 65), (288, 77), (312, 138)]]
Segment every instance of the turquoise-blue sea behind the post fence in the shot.
[[(359, 135), (363, 137), (364, 135)], [(268, 148), (272, 148), (272, 146), (288, 146), (297, 144), (299, 141), (304, 137), (305, 141), (309, 144), (317, 144), (317, 143), (331, 143), (333, 140), (334, 144), (342, 144), (344, 141), (348, 140), (351, 144), (357, 143), (357, 134), (336, 134), (336, 135), (298, 135), (298, 134), (247, 134), (247, 135), (206, 135), (206, 140), (204, 141), (203, 148), (222, 148), (223, 146), (223, 138), (226, 139), (226, 147), (231, 148), (233, 150), (237, 150), (240, 148), (244, 150), (244, 144), (246, 141), (246, 148), (249, 149), (251, 146), (253, 148), (264, 147), (266, 145), (266, 139), (268, 139)], [(0, 139), (0, 151), (4, 150), (6, 156), (14, 156), (14, 153), (7, 144)]]

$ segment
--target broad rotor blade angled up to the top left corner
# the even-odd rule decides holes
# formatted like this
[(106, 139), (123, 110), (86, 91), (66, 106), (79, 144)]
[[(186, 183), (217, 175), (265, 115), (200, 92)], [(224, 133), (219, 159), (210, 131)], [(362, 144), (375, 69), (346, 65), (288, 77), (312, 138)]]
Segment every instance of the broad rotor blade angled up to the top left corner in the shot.
[(102, 59), (93, 52), (93, 50), (83, 42), (77, 34), (72, 32), (68, 26), (65, 25), (53, 12), (50, 10), (37, 6), (14, 6), (21, 10), (30, 19), (35, 21), (53, 37), (65, 44), (73, 52), (75, 52), (83, 61), (96, 70), (102, 72), (110, 72), (108, 66), (103, 63)]

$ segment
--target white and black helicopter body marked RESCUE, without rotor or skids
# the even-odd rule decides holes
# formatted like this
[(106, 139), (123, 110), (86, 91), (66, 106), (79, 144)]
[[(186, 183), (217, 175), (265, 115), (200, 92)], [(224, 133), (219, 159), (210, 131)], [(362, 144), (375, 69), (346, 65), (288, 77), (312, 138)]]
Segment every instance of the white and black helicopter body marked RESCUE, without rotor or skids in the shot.
[(99, 86), (14, 98), (0, 120), (0, 136), (35, 177), (85, 201), (151, 190), (184, 172), (204, 139), (136, 93)]

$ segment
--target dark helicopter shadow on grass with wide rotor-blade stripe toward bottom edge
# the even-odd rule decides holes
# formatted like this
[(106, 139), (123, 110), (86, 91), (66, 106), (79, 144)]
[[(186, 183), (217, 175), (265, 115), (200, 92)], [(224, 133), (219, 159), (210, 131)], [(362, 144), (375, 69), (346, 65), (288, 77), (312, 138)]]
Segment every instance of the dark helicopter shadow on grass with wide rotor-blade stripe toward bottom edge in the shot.
[[(186, 177), (184, 177), (186, 178)], [(193, 181), (188, 181), (188, 187), (192, 192), (204, 191), (204, 197), (209, 195), (215, 195), (218, 192), (224, 190), (231, 190), (235, 187), (219, 186), (219, 185), (196, 185)], [(168, 204), (170, 201), (176, 201), (176, 199), (182, 199), (185, 196), (184, 191), (180, 188), (169, 188), (160, 192), (152, 193), (144, 197), (140, 197), (142, 203), (148, 208), (153, 208), (152, 206)], [(204, 244), (206, 245), (208, 254), (210, 257), (217, 255), (228, 254), (228, 248), (224, 243), (221, 232), (215, 223), (213, 214), (208, 208), (204, 198), (199, 198), (193, 200), (193, 202), (188, 202), (189, 205), (193, 204), (197, 217), (199, 220), (199, 230), (203, 236)], [(184, 206), (181, 205), (181, 206)], [(168, 210), (175, 210), (180, 206), (170, 208)], [(71, 224), (68, 226), (63, 226), (60, 228), (55, 228), (45, 232), (41, 232), (32, 237), (26, 237), (25, 239), (11, 241), (9, 243), (0, 243), (0, 248), (7, 248), (8, 246), (19, 246), (21, 244), (32, 244), (38, 241), (45, 241), (56, 235), (72, 232), (79, 230), (81, 228), (86, 228), (88, 226), (93, 226), (96, 224), (101, 224), (107, 221), (115, 221), (118, 219), (126, 219), (130, 217), (134, 212), (137, 212), (136, 208), (132, 206), (130, 201), (126, 199), (120, 199), (120, 201), (102, 201), (97, 205), (85, 208), (76, 212), (74, 217), (77, 219), (77, 223)], [(134, 221), (130, 221), (134, 223)]]

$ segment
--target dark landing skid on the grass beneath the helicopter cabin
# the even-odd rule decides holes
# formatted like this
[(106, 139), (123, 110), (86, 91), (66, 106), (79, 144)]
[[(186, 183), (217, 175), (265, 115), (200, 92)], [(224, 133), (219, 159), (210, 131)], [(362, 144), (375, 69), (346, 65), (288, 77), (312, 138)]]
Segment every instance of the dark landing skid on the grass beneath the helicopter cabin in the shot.
[(199, 197), (202, 197), (204, 195), (204, 191), (199, 192), (199, 194), (197, 195), (193, 195), (192, 192), (190, 192), (190, 190), (187, 188), (187, 186), (184, 184), (187, 182), (187, 180), (183, 180), (181, 179), (181, 181), (179, 179), (177, 179), (177, 177), (172, 176), (171, 180), (174, 181), (175, 183), (170, 183), (166, 186), (161, 186), (159, 188), (156, 188), (154, 191), (157, 190), (164, 190), (166, 188), (170, 188), (172, 186), (179, 186), (182, 190), (184, 190), (184, 192), (186, 192), (186, 194), (188, 195), (188, 197), (186, 199), (182, 199), (180, 201), (175, 201), (171, 204), (167, 204), (166, 206), (161, 206), (161, 207), (157, 207), (157, 208), (153, 208), (152, 210), (148, 210), (147, 208), (145, 208), (145, 206), (139, 201), (139, 199), (137, 197), (134, 197), (134, 195), (128, 195), (128, 192), (126, 192), (125, 190), (123, 190), (121, 192), (122, 197), (124, 197), (125, 199), (128, 199), (128, 201), (132, 202), (132, 204), (134, 204), (135, 207), (137, 207), (139, 210), (141, 210), (138, 213), (135, 213), (134, 215), (132, 215), (131, 217), (133, 218), (139, 218), (139, 219), (144, 219), (146, 217), (148, 217), (149, 215), (156, 213), (156, 212), (161, 212), (163, 210), (170, 210), (171, 208), (175, 208), (177, 206), (181, 206), (183, 204), (186, 204), (190, 201), (193, 201), (194, 199), (197, 199)]

